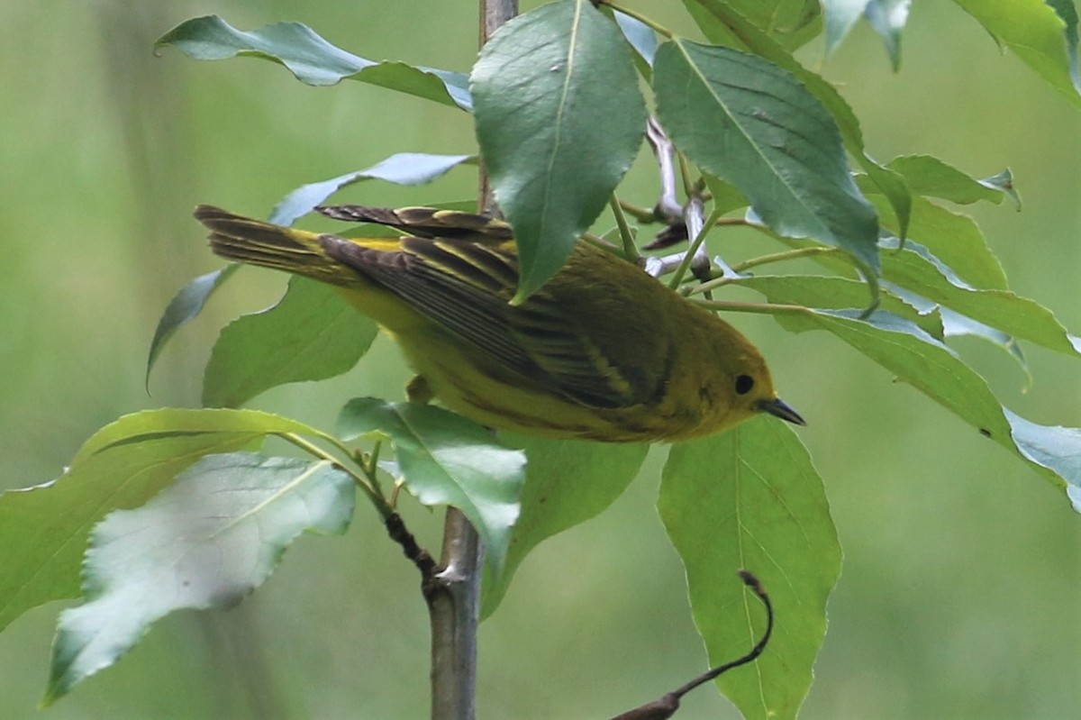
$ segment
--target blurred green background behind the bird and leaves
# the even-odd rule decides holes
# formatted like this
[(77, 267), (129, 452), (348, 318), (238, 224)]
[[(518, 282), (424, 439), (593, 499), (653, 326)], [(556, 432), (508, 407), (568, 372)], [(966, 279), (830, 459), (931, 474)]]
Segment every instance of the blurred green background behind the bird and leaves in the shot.
[[(690, 31), (679, 3), (632, 4)], [(801, 58), (841, 85), (876, 157), (927, 152), (977, 177), (1011, 166), (1024, 212), (967, 212), (1014, 289), (1081, 330), (1081, 114), (953, 3), (913, 4), (899, 75), (864, 25), (827, 61), (820, 44)], [(299, 21), (375, 59), (465, 71), (475, 54), (471, 0), (0, 3), (2, 488), (56, 477), (118, 415), (197, 404), (219, 328), (280, 293), (282, 278), (242, 272), (174, 339), (146, 395), (161, 310), (219, 265), (190, 218), (196, 203), (265, 215), (301, 184), (396, 151), (475, 149), (469, 118), (450, 108), (359, 83), (308, 88), (252, 59), (155, 56), (155, 39), (208, 13), (242, 29)], [(640, 162), (624, 194), (651, 204), (655, 192)], [(369, 183), (341, 199), (473, 194), (473, 171), (459, 169), (428, 187)], [(773, 250), (758, 238), (717, 249), (730, 258)], [(1077, 717), (1081, 518), (1063, 494), (832, 337), (736, 322), (810, 421), (800, 435), (846, 555), (803, 717)], [(1036, 382), (1026, 392), (1004, 355), (960, 349), (1015, 411), (1081, 426), (1081, 362), (1027, 348)], [(376, 350), (345, 377), (279, 388), (254, 406), (331, 427), (349, 397), (401, 397), (408, 371), (385, 339)], [(609, 717), (703, 669), (681, 566), (653, 509), (662, 458), (608, 512), (526, 560), (482, 627), (481, 717)], [(436, 546), (439, 515), (406, 505)], [(62, 606), (0, 635), (0, 717), (39, 715)], [(427, 645), (416, 572), (360, 507), (344, 538), (302, 538), (236, 610), (159, 623), (45, 716), (422, 718)], [(678, 717), (737, 716), (703, 689)]]

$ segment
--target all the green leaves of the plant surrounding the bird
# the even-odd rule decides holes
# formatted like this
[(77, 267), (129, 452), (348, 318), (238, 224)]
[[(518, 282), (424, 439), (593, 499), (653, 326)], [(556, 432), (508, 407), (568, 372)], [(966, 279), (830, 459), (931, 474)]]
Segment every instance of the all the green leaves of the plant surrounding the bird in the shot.
[[(957, 2), (1081, 105), (1071, 3), (1024, 0), (1000, 12), (997, 3)], [(1009, 171), (973, 178), (929, 156), (878, 163), (842, 96), (791, 54), (822, 31), (832, 49), (865, 17), (896, 66), (908, 2), (825, 0), (823, 10), (814, 1), (683, 4), (710, 44), (676, 36), (616, 3), (559, 0), (509, 23), (469, 77), (372, 62), (296, 23), (241, 31), (201, 17), (163, 36), (158, 46), (197, 59), (255, 56), (308, 84), (358, 80), (432, 101), (448, 112), (472, 112), (479, 155), (521, 246), (519, 298), (558, 271), (640, 150), (646, 117), (641, 78), (680, 154), (685, 194), (717, 203), (706, 213), (706, 229), (724, 215), (779, 245), (730, 271), (683, 281), (683, 294), (718, 309), (770, 314), (792, 332), (837, 336), (1066, 489), (1081, 507), (1081, 431), (1011, 412), (946, 344), (976, 335), (1023, 365), (1018, 341), (1081, 352), (1081, 341), (1050, 310), (1009, 290), (975, 223), (942, 202), (1019, 202)], [(846, 154), (862, 172), (850, 172)], [(422, 184), (471, 162), (469, 155), (395, 155), (298, 188), (272, 219), (292, 223), (351, 183)], [(636, 216), (643, 226), (672, 219), (650, 211)], [(816, 262), (823, 275), (749, 272), (799, 257)], [(197, 278), (177, 295), (159, 324), (148, 372), (164, 343), (232, 275), (226, 268)], [(702, 298), (729, 285), (766, 302)], [(235, 602), (304, 530), (344, 531), (353, 486), (384, 517), (397, 498), (383, 490), (388, 477), (422, 504), (466, 511), (488, 548), (484, 604), (491, 613), (529, 550), (603, 510), (637, 472), (643, 446), (509, 436), (494, 442), (483, 428), (431, 408), (353, 400), (334, 435), (229, 409), (283, 383), (344, 372), (365, 354), (374, 332), (333, 293), (294, 280), (273, 308), (223, 331), (203, 391), (205, 405), (222, 409), (122, 417), (91, 437), (56, 481), (0, 497), (0, 536), (9, 548), (0, 573), (0, 627), (49, 600), (81, 595), (86, 601), (62, 615), (48, 699), (115, 662), (165, 613)], [(267, 437), (286, 440), (316, 462), (253, 454)], [(379, 462), (388, 440), (397, 463)], [(774, 644), (753, 667), (726, 676), (723, 692), (746, 717), (795, 717), (840, 568), (810, 457), (790, 430), (763, 418), (671, 448), (663, 475), (662, 517), (686, 568), (710, 656), (720, 662), (733, 644), (749, 646), (756, 636), (758, 619), (747, 610), (753, 600), (731, 577), (737, 568), (752, 570), (775, 601)], [(313, 505), (312, 495), (321, 498)], [(182, 544), (181, 535), (170, 534), (177, 522), (199, 531), (183, 533)], [(147, 541), (129, 556), (131, 547), (117, 538), (132, 532), (147, 533)], [(211, 577), (208, 563), (243, 572)], [(112, 626), (112, 636), (90, 637), (114, 617), (126, 625)]]

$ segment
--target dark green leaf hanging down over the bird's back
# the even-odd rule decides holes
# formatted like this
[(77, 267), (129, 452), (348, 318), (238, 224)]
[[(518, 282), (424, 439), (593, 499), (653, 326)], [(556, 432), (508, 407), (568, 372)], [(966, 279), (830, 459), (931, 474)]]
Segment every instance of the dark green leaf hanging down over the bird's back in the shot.
[(630, 49), (587, 0), (504, 25), (470, 80), (481, 156), (518, 240), (520, 303), (605, 208), (642, 144), (645, 104)]

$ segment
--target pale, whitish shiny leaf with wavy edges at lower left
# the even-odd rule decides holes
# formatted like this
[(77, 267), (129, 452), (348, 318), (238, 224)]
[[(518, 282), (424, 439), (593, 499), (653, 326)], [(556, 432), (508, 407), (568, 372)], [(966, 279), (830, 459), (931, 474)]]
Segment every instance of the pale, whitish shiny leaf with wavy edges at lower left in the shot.
[(342, 534), (351, 478), (328, 462), (204, 457), (136, 510), (93, 531), (85, 603), (61, 613), (44, 703), (112, 665), (176, 610), (227, 608), (263, 584), (305, 531)]

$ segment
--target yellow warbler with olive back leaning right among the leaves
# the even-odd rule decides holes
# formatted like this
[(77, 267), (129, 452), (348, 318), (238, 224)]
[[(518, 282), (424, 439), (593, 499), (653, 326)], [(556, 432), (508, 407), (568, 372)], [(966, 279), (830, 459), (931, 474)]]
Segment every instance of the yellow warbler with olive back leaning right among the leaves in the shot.
[(506, 223), (432, 208), (341, 205), (404, 237), (306, 232), (200, 205), (223, 257), (337, 285), (401, 346), (414, 396), (494, 428), (610, 442), (685, 440), (758, 412), (802, 425), (734, 328), (635, 265), (578, 243), (520, 305)]

